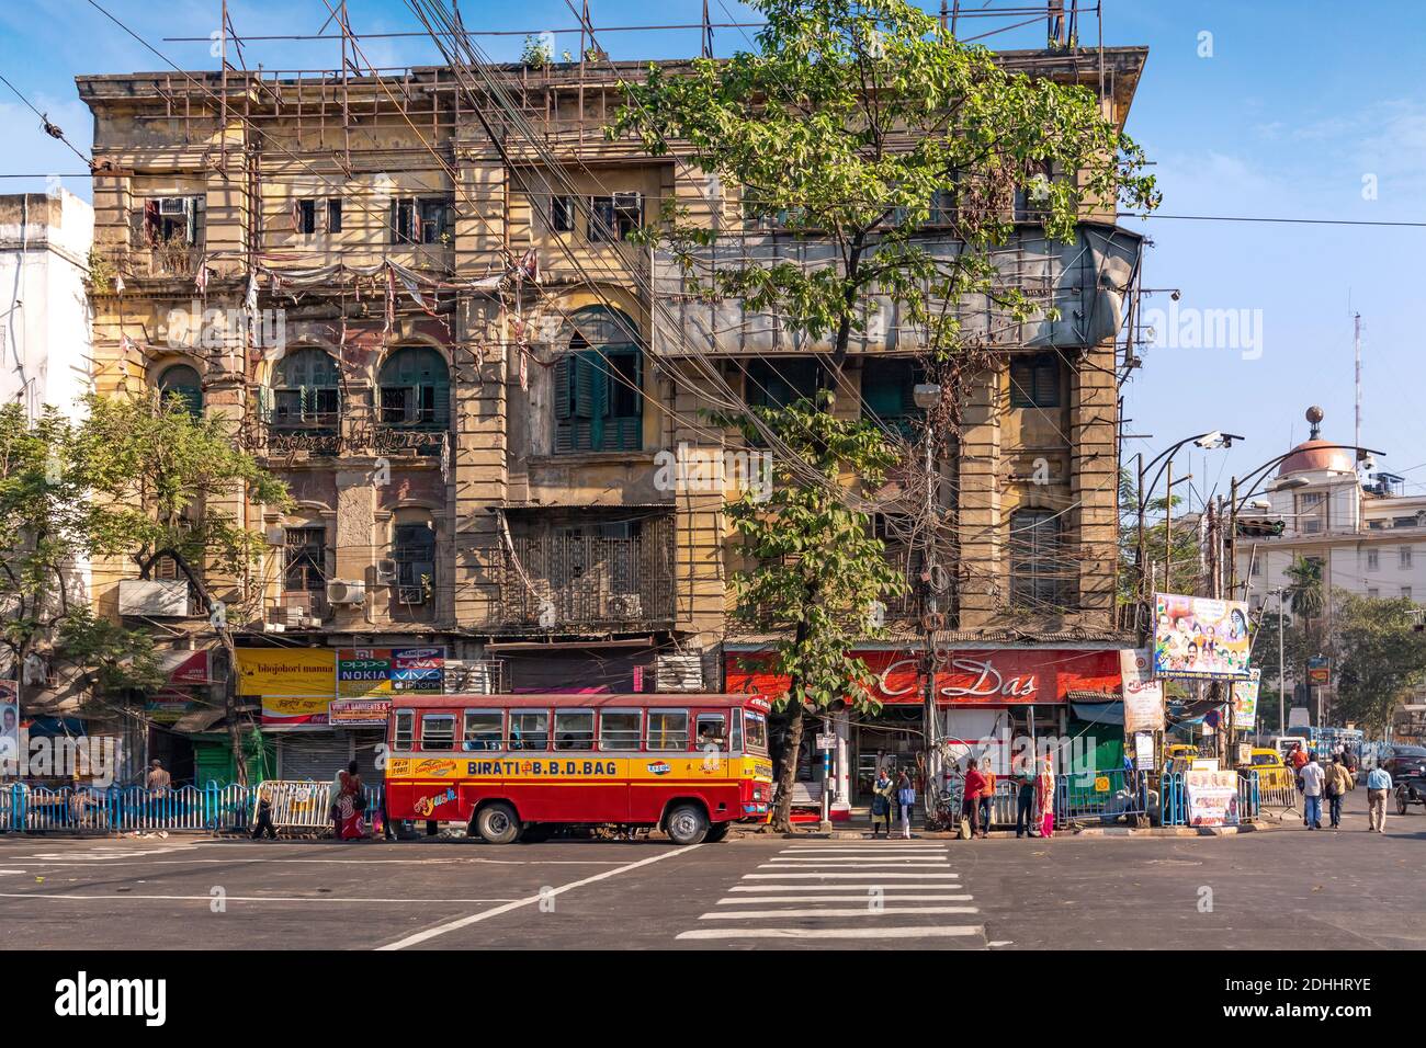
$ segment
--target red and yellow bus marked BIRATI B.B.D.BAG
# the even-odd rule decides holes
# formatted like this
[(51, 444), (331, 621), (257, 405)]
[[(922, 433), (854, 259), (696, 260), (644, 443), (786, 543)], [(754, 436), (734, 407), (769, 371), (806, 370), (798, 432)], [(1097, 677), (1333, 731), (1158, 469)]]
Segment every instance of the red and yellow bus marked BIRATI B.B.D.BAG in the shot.
[(386, 816), (491, 844), (607, 824), (717, 841), (766, 820), (769, 711), (757, 694), (404, 697), (386, 721)]

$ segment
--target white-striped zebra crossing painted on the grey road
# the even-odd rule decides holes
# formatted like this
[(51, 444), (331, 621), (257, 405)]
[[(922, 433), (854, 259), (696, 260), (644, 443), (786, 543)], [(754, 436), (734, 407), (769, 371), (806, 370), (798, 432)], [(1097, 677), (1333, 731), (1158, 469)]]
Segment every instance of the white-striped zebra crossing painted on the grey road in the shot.
[(940, 841), (807, 841), (766, 857), (677, 940), (934, 940), (984, 948), (980, 908)]

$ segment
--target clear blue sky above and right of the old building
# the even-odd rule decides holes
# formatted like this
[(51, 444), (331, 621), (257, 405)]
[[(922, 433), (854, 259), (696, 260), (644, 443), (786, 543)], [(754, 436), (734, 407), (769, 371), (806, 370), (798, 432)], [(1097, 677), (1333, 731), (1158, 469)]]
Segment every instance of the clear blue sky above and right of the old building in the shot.
[[(113, 14), (187, 68), (215, 68), (207, 43), (218, 0), (153, 3), (100, 0)], [(994, 6), (1005, 6), (995, 0)], [(983, 0), (963, 0), (974, 10)], [(1426, 34), (1413, 0), (1370, 6), (1370, 17), (1340, 3), (1105, 0), (1105, 43), (1147, 44), (1149, 60), (1129, 115), (1164, 190), (1164, 215), (1283, 217), (1426, 222)], [(632, 0), (592, 0), (595, 24), (697, 21), (697, 0), (667, 0), (653, 14)], [(716, 20), (752, 20), (740, 4), (713, 0)], [(528, 30), (576, 24), (563, 0), (522, 4), (462, 0), (472, 29)], [(324, 0), (232, 0), (242, 36), (317, 33)], [(419, 29), (404, 0), (351, 0), (358, 33)], [(977, 30), (988, 27), (977, 21)], [(1081, 36), (1092, 43), (1092, 29)], [(752, 30), (747, 30), (752, 33)], [(1208, 33), (1211, 37), (1205, 37)], [(967, 36), (963, 33), (963, 36)], [(1035, 46), (1041, 23), (987, 40)], [(560, 47), (570, 37), (559, 37)], [(687, 56), (696, 31), (607, 34), (615, 58)], [(495, 58), (515, 58), (520, 36), (486, 37)], [(1211, 56), (1204, 56), (1211, 46)], [(717, 47), (746, 47), (722, 30)], [(366, 61), (434, 61), (419, 38), (372, 40)], [(572, 43), (570, 50), (576, 50)], [(247, 63), (265, 68), (335, 67), (332, 41), (261, 43)], [(165, 68), (86, 0), (0, 4), (0, 74), (4, 74), (81, 148), (90, 121), (78, 103), (77, 73)], [(39, 131), (37, 118), (0, 87), (0, 135), (10, 148), (0, 174), (73, 174), (78, 161)], [(88, 195), (87, 181), (64, 178)], [(43, 188), (44, 178), (0, 180), (0, 191)], [(1375, 187), (1375, 198), (1365, 188)], [(1417, 315), (1426, 228), (1178, 221), (1128, 222), (1154, 242), (1145, 285), (1178, 288), (1181, 317), (1235, 309), (1261, 321), (1261, 339), (1236, 348), (1162, 345), (1125, 386), (1127, 431), (1152, 433), (1125, 453), (1151, 453), (1205, 429), (1242, 433), (1231, 451), (1195, 453), (1199, 492), (1226, 489), (1246, 472), (1306, 436), (1302, 412), (1326, 409), (1325, 433), (1352, 439), (1352, 315), (1365, 324), (1363, 443), (1386, 452), (1383, 469), (1405, 473), (1407, 490), (1426, 490), (1426, 441), (1417, 376)], [(1147, 299), (1166, 309), (1166, 294)], [(1350, 309), (1349, 309), (1350, 304)], [(1166, 325), (1164, 325), (1166, 328)], [(1168, 332), (1161, 331), (1166, 338)], [(1186, 341), (1186, 339), (1178, 339)], [(1243, 341), (1243, 339), (1241, 339)]]

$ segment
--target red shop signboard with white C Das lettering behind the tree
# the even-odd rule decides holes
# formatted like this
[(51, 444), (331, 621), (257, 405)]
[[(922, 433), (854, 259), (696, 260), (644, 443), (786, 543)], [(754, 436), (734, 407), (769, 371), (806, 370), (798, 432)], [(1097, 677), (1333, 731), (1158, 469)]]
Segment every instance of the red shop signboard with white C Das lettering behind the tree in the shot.
[[(854, 652), (876, 674), (873, 694), (883, 703), (923, 702), (920, 652)], [(779, 696), (787, 677), (763, 666), (771, 656), (729, 653), (727, 690)], [(935, 673), (938, 706), (1031, 706), (1065, 703), (1070, 692), (1119, 694), (1119, 650), (1001, 647), (940, 653)]]

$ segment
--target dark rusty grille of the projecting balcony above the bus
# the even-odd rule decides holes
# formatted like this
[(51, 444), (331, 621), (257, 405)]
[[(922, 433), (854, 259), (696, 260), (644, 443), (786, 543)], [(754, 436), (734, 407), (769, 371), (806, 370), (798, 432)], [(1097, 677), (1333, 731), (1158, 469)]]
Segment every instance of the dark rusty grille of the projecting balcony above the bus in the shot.
[(629, 538), (573, 529), (512, 536), (501, 565), (495, 625), (552, 632), (647, 629), (674, 617), (673, 520)]

